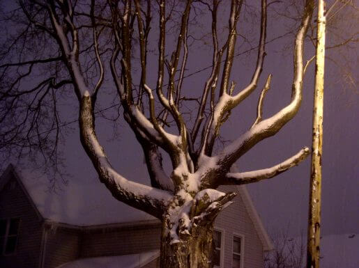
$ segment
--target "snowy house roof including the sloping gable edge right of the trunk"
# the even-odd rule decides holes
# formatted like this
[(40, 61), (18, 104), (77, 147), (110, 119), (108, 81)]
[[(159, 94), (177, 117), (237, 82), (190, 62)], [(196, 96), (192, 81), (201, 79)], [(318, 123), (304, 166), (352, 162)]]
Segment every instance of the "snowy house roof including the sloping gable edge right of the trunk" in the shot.
[[(65, 223), (68, 226), (91, 227), (103, 225), (122, 225), (125, 223), (144, 222), (154, 223), (158, 221), (153, 216), (136, 210), (133, 207), (115, 200), (109, 191), (100, 182), (78, 183), (76, 180), (69, 182), (62, 191), (49, 191), (47, 178), (30, 171), (18, 171), (13, 165), (9, 165), (0, 179), (0, 191), (10, 179), (10, 173), (22, 185), (24, 192), (29, 196), (38, 214), (49, 222)], [(264, 251), (273, 249), (266, 229), (252, 203), (250, 194), (244, 185), (237, 187), (238, 194), (243, 199), (250, 219), (254, 223)]]

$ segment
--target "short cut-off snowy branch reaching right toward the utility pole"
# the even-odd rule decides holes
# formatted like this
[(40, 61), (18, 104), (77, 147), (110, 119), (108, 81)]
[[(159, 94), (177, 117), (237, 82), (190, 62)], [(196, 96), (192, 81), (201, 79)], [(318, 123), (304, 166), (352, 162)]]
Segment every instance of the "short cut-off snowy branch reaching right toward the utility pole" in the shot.
[(298, 165), (301, 161), (307, 158), (308, 155), (310, 155), (310, 149), (305, 147), (296, 155), (293, 155), (293, 157), (270, 168), (243, 173), (227, 173), (224, 184), (247, 184), (273, 178), (276, 175), (287, 171), (289, 168)]

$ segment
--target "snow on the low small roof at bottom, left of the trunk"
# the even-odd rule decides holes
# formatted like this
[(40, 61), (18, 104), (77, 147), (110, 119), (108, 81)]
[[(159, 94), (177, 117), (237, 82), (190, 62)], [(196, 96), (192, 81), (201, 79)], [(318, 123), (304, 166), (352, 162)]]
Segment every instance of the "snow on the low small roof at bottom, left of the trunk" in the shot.
[(66, 262), (57, 268), (140, 268), (160, 256), (160, 251), (139, 254), (83, 258)]

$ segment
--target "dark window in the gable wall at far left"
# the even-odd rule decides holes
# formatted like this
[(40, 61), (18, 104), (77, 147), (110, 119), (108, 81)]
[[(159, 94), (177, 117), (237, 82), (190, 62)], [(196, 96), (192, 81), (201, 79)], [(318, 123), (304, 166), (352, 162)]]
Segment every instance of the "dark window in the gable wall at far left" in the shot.
[(0, 253), (8, 255), (15, 253), (20, 219), (0, 220)]

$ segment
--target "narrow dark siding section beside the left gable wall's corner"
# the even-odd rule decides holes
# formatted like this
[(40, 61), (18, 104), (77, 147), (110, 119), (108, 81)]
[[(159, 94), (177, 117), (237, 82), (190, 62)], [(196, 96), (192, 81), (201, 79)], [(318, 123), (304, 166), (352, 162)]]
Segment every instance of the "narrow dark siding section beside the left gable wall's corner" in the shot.
[(44, 268), (54, 268), (79, 258), (79, 231), (66, 228), (48, 228), (45, 243)]

